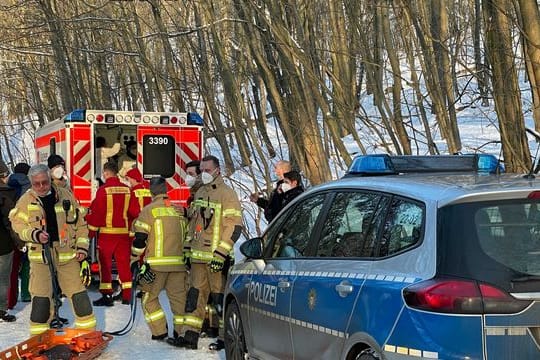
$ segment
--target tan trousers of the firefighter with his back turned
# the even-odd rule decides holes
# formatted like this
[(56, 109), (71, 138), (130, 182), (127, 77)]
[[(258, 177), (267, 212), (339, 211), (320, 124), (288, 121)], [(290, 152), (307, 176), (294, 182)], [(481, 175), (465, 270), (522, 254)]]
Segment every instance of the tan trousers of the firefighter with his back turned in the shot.
[(154, 281), (151, 284), (141, 285), (141, 289), (144, 291), (142, 308), (146, 323), (154, 336), (168, 332), (167, 317), (159, 302), (159, 293), (161, 290), (165, 290), (173, 313), (174, 331), (177, 334), (182, 334), (185, 324), (187, 273), (185, 271), (161, 272), (155, 269), (153, 271), (156, 274)]

